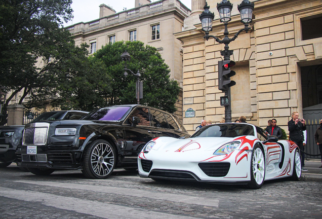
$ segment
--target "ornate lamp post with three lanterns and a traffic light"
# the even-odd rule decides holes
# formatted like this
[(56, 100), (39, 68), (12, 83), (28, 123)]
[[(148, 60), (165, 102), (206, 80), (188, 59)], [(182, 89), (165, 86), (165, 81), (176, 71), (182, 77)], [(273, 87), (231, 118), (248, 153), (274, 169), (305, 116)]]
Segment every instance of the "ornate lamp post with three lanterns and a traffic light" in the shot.
[[(240, 13), (240, 22), (244, 23), (245, 28), (240, 29), (232, 38), (228, 37), (228, 22), (231, 20), (231, 9), (232, 4), (227, 0), (222, 0), (221, 3), (217, 3), (217, 10), (220, 16), (220, 22), (223, 22), (225, 25), (224, 30), (224, 38), (221, 40), (214, 35), (209, 35), (209, 32), (213, 29), (213, 20), (214, 13), (209, 11), (209, 6), (206, 5), (204, 7), (205, 11), (199, 15), (199, 19), (202, 22), (202, 29), (205, 31), (204, 39), (208, 41), (209, 38), (214, 38), (216, 42), (220, 44), (225, 44), (224, 50), (220, 52), (220, 54), (224, 57), (223, 61), (219, 61), (219, 84), (221, 85), (221, 90), (225, 92), (225, 96), (228, 98), (229, 104), (225, 104), (225, 121), (231, 122), (231, 102), (230, 102), (230, 87), (235, 85), (235, 82), (230, 81), (230, 76), (235, 75), (234, 71), (230, 70), (230, 67), (235, 63), (230, 61), (230, 56), (233, 54), (233, 50), (229, 50), (228, 44), (231, 41), (234, 41), (238, 34), (245, 30), (248, 32), (251, 27), (248, 26), (249, 23), (252, 22), (254, 3), (251, 3), (248, 0), (243, 0), (243, 2), (238, 5), (238, 11)], [(223, 68), (224, 67), (224, 68)], [(226, 69), (225, 69), (226, 68)], [(225, 82), (224, 82), (225, 81)], [(224, 84), (223, 84), (224, 83)]]

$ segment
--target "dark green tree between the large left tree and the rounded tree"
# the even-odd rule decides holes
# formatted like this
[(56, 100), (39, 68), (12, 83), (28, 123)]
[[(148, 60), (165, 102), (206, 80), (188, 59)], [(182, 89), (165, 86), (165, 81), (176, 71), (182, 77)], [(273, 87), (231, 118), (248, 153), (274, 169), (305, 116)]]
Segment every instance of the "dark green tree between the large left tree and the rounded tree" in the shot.
[(72, 77), (58, 83), (55, 90), (58, 95), (52, 102), (53, 106), (92, 111), (109, 104), (111, 78), (105, 64), (90, 56), (82, 66)]

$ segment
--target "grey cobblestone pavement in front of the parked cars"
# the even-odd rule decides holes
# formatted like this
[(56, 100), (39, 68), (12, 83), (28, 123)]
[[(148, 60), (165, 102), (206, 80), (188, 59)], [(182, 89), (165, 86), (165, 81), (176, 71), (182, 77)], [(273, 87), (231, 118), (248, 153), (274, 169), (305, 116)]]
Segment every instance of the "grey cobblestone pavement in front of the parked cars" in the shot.
[(115, 170), (49, 176), (0, 169), (0, 218), (321, 218), (322, 181), (266, 181), (259, 190), (198, 182), (157, 182)]

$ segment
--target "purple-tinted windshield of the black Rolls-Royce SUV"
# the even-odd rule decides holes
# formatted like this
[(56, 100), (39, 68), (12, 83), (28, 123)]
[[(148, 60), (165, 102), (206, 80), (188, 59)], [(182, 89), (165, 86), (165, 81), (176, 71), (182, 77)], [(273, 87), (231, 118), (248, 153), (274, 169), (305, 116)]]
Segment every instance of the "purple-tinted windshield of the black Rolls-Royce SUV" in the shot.
[(129, 111), (131, 106), (100, 108), (91, 112), (82, 120), (118, 121)]

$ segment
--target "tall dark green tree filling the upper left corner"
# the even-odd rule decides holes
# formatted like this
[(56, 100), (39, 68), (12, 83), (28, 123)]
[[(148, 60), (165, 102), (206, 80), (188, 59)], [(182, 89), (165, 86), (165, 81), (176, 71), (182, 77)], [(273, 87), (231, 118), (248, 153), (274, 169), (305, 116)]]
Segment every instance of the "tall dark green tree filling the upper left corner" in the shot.
[(0, 1), (0, 78), (13, 93), (7, 106), (23, 90), (28, 107), (42, 106), (56, 95), (58, 82), (67, 80), (87, 62), (85, 45), (76, 47), (68, 30), (61, 28), (72, 17), (71, 0)]

